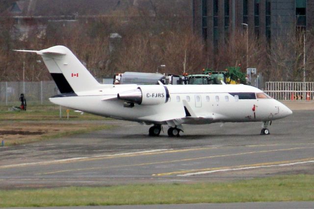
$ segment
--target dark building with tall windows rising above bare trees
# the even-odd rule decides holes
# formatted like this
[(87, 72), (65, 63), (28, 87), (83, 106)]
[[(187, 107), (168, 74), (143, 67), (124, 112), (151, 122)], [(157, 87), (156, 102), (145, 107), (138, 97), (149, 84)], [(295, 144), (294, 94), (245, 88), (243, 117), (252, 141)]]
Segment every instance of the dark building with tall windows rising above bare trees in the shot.
[(314, 0), (193, 0), (193, 29), (215, 49), (236, 31), (271, 44), (291, 28), (314, 27)]

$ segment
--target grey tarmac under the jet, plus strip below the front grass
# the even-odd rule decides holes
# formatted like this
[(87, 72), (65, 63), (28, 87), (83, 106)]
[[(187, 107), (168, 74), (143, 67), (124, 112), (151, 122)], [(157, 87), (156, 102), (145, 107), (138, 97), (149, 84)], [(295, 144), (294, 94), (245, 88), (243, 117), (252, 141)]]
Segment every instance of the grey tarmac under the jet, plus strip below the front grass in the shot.
[[(0, 147), (0, 188), (224, 182), (314, 174), (314, 102), (283, 102), (293, 114), (262, 123), (185, 126), (179, 138), (148, 136), (146, 125), (110, 120), (114, 128), (31, 144)], [(314, 208), (314, 202), (93, 207)], [(71, 207), (70, 207), (71, 208)], [(77, 208), (77, 207), (75, 207)], [(90, 208), (90, 207), (82, 207)], [(58, 208), (60, 209), (60, 208)]]

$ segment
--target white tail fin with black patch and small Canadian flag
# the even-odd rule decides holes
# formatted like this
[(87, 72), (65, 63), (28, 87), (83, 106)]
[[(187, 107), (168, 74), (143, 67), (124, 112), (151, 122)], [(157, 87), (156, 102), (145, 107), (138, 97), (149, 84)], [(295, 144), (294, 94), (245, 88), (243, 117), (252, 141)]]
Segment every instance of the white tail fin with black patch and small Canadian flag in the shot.
[(16, 51), (34, 52), (41, 55), (60, 93), (85, 92), (100, 87), (93, 75), (65, 46), (52, 46), (43, 50)]

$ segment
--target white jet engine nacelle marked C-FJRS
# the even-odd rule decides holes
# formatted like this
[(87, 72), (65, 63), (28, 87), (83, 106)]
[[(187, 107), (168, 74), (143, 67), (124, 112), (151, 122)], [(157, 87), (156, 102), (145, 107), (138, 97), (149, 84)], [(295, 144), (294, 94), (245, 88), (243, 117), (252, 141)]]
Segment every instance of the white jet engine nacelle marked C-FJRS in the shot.
[(140, 105), (157, 105), (168, 102), (169, 92), (166, 86), (142, 85), (135, 90), (118, 93), (118, 98)]

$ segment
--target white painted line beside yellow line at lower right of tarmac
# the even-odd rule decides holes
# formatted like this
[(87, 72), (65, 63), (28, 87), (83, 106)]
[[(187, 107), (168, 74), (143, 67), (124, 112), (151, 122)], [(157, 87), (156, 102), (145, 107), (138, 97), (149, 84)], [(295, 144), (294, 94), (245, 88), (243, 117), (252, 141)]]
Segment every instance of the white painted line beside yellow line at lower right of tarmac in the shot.
[(284, 163), (284, 164), (274, 164), (274, 165), (261, 165), (261, 166), (248, 166), (248, 167), (240, 167), (240, 168), (227, 168), (227, 169), (218, 169), (218, 170), (210, 170), (210, 171), (200, 171), (200, 172), (195, 172), (195, 173), (186, 173), (186, 174), (180, 174), (177, 176), (194, 176), (194, 175), (202, 175), (202, 174), (217, 173), (217, 172), (238, 171), (238, 170), (248, 170), (248, 169), (267, 168), (267, 167), (279, 167), (279, 166), (290, 166), (290, 165), (305, 164), (305, 163), (314, 163), (314, 161)]

